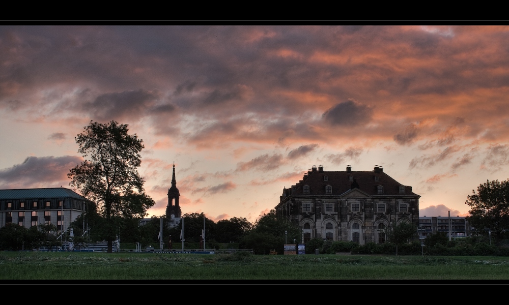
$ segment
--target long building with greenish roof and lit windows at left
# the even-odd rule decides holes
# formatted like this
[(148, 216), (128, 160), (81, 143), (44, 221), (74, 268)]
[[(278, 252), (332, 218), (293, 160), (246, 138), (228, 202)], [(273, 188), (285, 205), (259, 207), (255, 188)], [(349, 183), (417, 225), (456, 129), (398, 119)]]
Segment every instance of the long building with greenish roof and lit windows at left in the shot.
[(89, 203), (94, 204), (66, 188), (0, 190), (0, 227), (53, 224), (67, 230)]

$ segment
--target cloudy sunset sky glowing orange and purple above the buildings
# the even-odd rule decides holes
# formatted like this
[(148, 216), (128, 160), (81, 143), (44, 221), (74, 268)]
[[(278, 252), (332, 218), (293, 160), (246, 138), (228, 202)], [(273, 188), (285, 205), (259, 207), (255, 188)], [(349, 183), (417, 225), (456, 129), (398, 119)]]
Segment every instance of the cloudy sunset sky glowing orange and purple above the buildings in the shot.
[(509, 27), (2, 26), (0, 189), (69, 187), (90, 120), (144, 140), (164, 214), (254, 222), (313, 165), (373, 170), (466, 215), (509, 174)]

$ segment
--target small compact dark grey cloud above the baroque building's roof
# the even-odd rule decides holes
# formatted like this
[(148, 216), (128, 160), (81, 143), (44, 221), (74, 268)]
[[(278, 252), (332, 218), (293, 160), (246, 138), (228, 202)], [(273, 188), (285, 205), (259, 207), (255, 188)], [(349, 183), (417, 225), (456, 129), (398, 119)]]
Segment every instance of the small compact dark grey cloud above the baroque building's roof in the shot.
[(371, 107), (362, 105), (355, 100), (348, 100), (336, 104), (325, 111), (322, 116), (331, 125), (349, 127), (368, 123), (372, 114)]

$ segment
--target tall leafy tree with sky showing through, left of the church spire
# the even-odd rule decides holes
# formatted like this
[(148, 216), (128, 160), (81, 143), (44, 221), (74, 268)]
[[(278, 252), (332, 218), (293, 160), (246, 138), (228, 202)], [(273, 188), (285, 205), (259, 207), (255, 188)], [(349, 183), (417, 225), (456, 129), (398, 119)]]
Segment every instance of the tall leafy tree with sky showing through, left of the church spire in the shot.
[[(143, 189), (144, 180), (137, 168), (143, 141), (129, 135), (127, 125), (112, 120), (108, 124), (90, 121), (77, 135), (78, 152), (85, 159), (70, 170), (70, 186), (98, 204), (105, 219), (102, 232), (108, 241), (108, 253), (124, 219), (142, 218), (155, 204)], [(95, 228), (94, 228), (95, 229)]]

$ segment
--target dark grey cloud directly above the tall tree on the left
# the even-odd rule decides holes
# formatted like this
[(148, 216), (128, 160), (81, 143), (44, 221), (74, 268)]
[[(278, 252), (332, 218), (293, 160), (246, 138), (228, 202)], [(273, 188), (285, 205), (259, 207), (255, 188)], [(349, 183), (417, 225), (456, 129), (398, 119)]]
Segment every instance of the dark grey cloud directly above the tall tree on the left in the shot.
[(139, 89), (102, 94), (92, 103), (84, 104), (83, 108), (93, 113), (95, 118), (101, 120), (118, 120), (127, 117), (139, 118), (153, 107), (158, 99), (158, 93)]

